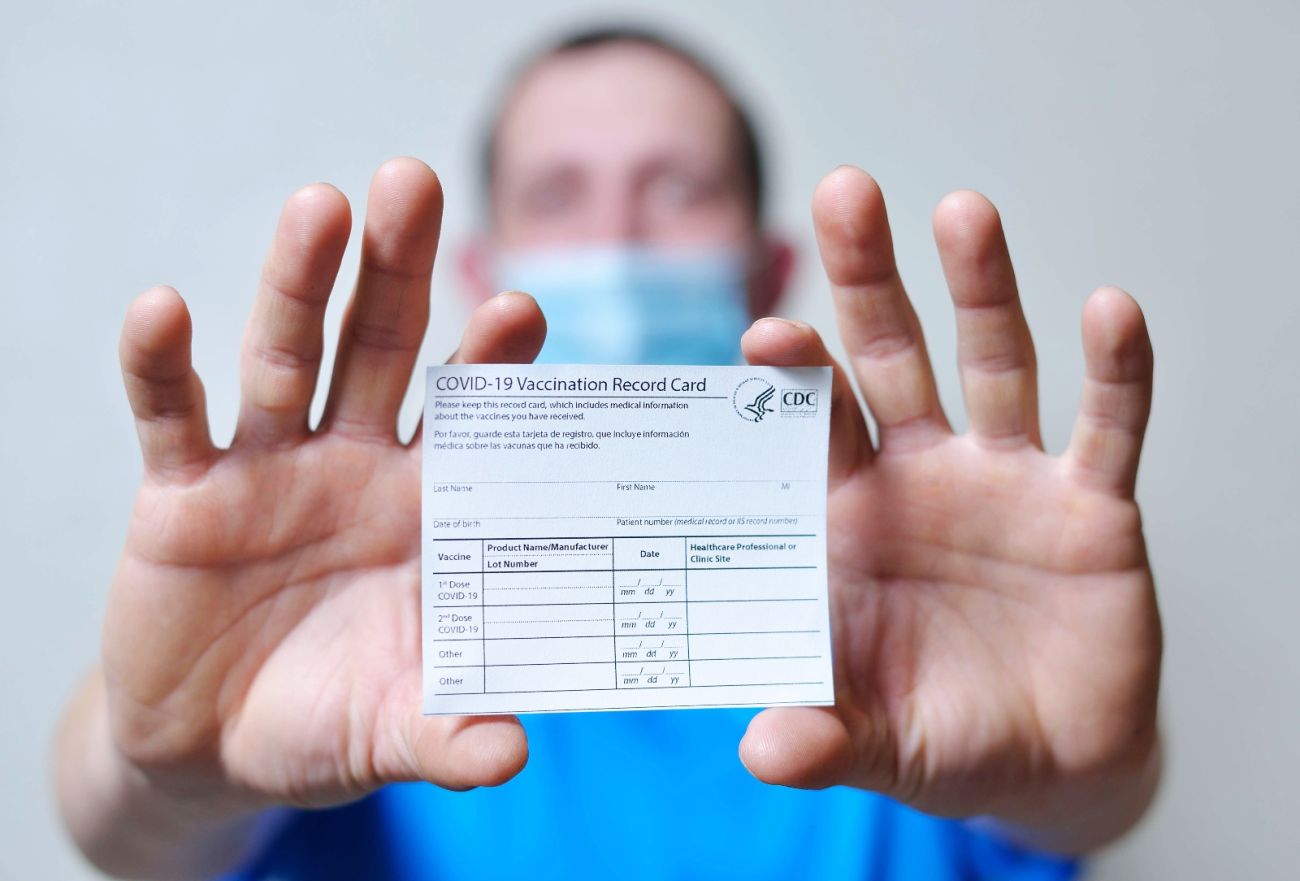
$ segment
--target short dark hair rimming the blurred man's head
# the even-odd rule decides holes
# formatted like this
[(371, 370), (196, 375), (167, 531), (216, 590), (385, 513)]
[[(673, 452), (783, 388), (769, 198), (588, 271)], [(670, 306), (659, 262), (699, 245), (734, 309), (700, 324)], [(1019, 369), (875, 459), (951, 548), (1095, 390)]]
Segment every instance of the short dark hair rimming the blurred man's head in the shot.
[(519, 87), (520, 81), (524, 79), (528, 73), (538, 68), (541, 64), (556, 58), (560, 56), (571, 55), (575, 52), (582, 52), (586, 49), (602, 48), (607, 45), (615, 45), (619, 43), (630, 43), (634, 45), (645, 45), (654, 49), (659, 49), (679, 61), (686, 62), (692, 69), (708, 79), (718, 91), (723, 95), (727, 101), (728, 108), (732, 113), (732, 120), (736, 126), (736, 139), (737, 139), (737, 155), (736, 161), (740, 164), (741, 181), (745, 188), (749, 191), (751, 204), (754, 208), (754, 220), (758, 221), (763, 214), (763, 155), (759, 148), (758, 134), (754, 130), (754, 122), (749, 112), (745, 109), (744, 104), (736, 97), (736, 94), (731, 87), (723, 81), (718, 71), (703, 60), (703, 57), (686, 48), (680, 40), (675, 38), (666, 36), (664, 34), (651, 30), (649, 27), (642, 27), (637, 25), (616, 25), (606, 27), (592, 27), (580, 31), (571, 32), (559, 40), (552, 42), (546, 45), (540, 52), (534, 52), (519, 65), (514, 74), (506, 83), (506, 88), (502, 96), (497, 100), (493, 109), (490, 121), (488, 123), (486, 131), (484, 134), (482, 149), (480, 153), (481, 161), (481, 175), (482, 186), (485, 192), (488, 192), (489, 199), (491, 196), (493, 175), (497, 166), (497, 135), (500, 130), (500, 121), (504, 113), (506, 105), (510, 103), (510, 97), (515, 94)]

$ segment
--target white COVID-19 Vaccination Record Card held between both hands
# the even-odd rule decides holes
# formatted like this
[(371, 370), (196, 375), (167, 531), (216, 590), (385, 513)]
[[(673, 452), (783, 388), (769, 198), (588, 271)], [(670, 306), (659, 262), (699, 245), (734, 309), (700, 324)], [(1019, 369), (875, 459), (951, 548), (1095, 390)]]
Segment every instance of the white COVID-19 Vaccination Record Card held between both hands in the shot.
[(833, 703), (829, 382), (429, 368), (424, 711)]

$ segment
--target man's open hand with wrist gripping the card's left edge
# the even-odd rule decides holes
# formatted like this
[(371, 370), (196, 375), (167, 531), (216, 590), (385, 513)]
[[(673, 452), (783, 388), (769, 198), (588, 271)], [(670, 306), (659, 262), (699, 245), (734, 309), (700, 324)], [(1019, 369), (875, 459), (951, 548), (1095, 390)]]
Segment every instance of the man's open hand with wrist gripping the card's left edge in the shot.
[[(316, 430), (325, 305), (351, 226), (337, 190), (311, 186), (285, 205), (229, 450), (209, 439), (179, 296), (153, 288), (131, 305), (121, 360), (146, 476), (103, 670), (60, 748), (65, 816), (105, 868), (212, 872), (239, 849), (160, 855), (269, 804), (339, 803), (399, 780), (493, 785), (523, 767), (517, 720), (420, 711), (420, 439), (400, 443), (396, 418), (441, 217), (424, 164), (393, 160), (374, 175)], [(499, 296), (474, 313), (455, 360), (530, 361), (543, 335), (530, 298)]]

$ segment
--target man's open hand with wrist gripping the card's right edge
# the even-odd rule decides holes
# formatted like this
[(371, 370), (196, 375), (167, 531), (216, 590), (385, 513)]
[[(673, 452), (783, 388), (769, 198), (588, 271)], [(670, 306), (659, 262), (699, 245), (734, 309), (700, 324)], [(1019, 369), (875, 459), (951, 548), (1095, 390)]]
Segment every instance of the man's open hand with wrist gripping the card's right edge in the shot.
[[(959, 191), (935, 214), (957, 311), (970, 430), (940, 408), (894, 265), (884, 201), (841, 168), (812, 201), (841, 339), (828, 564), (836, 706), (757, 716), (741, 758), (789, 786), (848, 784), (923, 811), (991, 815), (1066, 851), (1145, 808), (1158, 768), (1161, 628), (1134, 502), (1152, 352), (1114, 287), (1084, 307), (1087, 378), (1070, 448), (1043, 451), (1034, 344), (1001, 222)], [(762, 364), (832, 364), (806, 325), (745, 337)]]

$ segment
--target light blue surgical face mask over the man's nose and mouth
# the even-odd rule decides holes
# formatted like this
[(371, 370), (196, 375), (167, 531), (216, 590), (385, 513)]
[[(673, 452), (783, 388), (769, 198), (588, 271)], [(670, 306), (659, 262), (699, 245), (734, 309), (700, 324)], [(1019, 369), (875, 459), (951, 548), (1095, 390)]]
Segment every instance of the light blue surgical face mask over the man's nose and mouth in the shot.
[(540, 364), (736, 364), (750, 325), (740, 248), (584, 246), (503, 252), (498, 290), (546, 316)]

